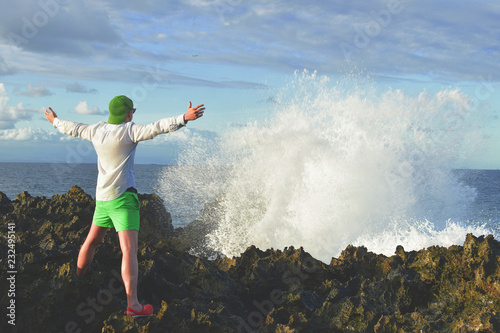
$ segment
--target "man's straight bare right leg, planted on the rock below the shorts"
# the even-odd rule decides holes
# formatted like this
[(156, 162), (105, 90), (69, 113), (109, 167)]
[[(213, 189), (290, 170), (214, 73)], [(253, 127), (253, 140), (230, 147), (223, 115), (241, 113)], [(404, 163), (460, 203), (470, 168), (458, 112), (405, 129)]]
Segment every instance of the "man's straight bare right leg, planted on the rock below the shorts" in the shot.
[(135, 311), (142, 310), (142, 305), (137, 299), (137, 280), (139, 278), (137, 263), (138, 235), (139, 231), (137, 230), (118, 231), (122, 250), (122, 279), (127, 293), (127, 305)]

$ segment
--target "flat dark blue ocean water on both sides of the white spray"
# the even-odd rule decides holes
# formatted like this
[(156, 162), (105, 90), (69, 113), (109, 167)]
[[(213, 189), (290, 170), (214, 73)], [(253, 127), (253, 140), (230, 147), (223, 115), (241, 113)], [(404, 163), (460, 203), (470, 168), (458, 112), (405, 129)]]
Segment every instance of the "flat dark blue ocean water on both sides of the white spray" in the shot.
[[(157, 193), (164, 200), (164, 185), (160, 183), (168, 170), (182, 168), (165, 165), (135, 165), (136, 183), (140, 193)], [(481, 223), (490, 229), (500, 230), (500, 170), (455, 170), (459, 179), (467, 186), (476, 189), (476, 199), (467, 209), (464, 220)], [(63, 163), (3, 163), (0, 162), (0, 191), (11, 200), (18, 194), (28, 191), (32, 196), (51, 197), (62, 194), (73, 185), (80, 186), (86, 193), (95, 197), (97, 166), (95, 164)], [(176, 187), (179, 197), (189, 198), (192, 189)], [(172, 196), (169, 195), (169, 198)], [(204, 202), (210, 201), (206, 198)], [(199, 216), (203, 204), (197, 205), (189, 200), (180, 202), (165, 201), (172, 214), (175, 226), (183, 226)]]

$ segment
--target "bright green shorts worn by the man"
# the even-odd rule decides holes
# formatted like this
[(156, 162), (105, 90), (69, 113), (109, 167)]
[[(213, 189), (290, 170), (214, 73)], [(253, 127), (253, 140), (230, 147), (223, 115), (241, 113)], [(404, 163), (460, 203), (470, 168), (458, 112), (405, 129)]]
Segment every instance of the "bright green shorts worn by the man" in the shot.
[(116, 231), (139, 230), (141, 204), (137, 194), (125, 192), (111, 201), (96, 200), (92, 223)]

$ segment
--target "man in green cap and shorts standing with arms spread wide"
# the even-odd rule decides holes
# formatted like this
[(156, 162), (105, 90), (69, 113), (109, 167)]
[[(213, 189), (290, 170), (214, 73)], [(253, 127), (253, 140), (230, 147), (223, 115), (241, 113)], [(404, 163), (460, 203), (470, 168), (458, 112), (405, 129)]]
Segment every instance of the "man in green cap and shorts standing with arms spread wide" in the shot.
[(76, 273), (83, 276), (92, 262), (96, 247), (108, 229), (115, 228), (122, 251), (121, 274), (127, 294), (125, 314), (142, 317), (151, 315), (153, 307), (140, 304), (137, 298), (140, 204), (134, 177), (135, 149), (139, 141), (173, 132), (188, 121), (202, 117), (205, 108), (203, 104), (192, 107), (189, 102), (186, 114), (149, 125), (132, 122), (135, 110), (132, 100), (121, 95), (109, 103), (108, 122), (86, 125), (62, 120), (50, 107), (45, 110), (45, 117), (61, 133), (91, 141), (98, 158), (96, 208), (89, 234), (78, 255)]

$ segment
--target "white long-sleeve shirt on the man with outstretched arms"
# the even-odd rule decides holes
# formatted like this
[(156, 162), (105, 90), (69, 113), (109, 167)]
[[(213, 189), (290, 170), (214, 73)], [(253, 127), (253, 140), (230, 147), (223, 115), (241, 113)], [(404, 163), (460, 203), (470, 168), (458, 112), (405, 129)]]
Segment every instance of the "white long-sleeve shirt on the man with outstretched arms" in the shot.
[(86, 125), (59, 118), (54, 127), (63, 134), (91, 141), (97, 153), (96, 200), (110, 201), (120, 197), (129, 187), (137, 188), (134, 175), (135, 149), (140, 141), (185, 126), (184, 115), (158, 120), (148, 125), (133, 122), (119, 125), (101, 121)]

